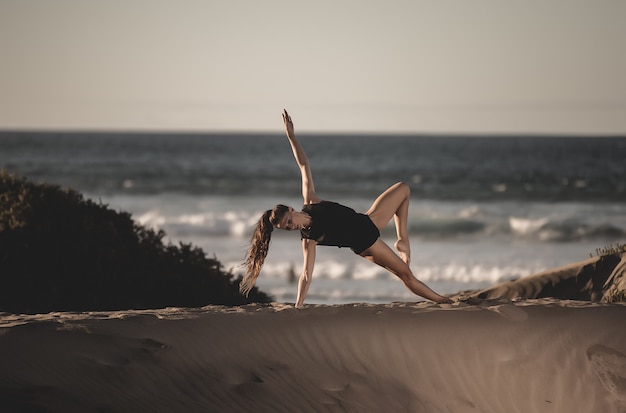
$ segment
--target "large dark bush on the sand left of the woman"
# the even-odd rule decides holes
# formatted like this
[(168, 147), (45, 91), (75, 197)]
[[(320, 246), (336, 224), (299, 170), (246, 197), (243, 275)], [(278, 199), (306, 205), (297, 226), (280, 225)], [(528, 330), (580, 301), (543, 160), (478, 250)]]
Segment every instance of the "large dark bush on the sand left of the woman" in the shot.
[(269, 302), (216, 257), (75, 190), (0, 171), (0, 311), (146, 309)]

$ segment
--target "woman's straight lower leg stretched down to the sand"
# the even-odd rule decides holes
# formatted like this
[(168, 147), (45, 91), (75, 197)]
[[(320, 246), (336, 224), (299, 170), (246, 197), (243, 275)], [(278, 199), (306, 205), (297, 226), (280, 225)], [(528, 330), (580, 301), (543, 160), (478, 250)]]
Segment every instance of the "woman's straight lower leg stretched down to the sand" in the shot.
[(415, 278), (409, 266), (380, 238), (374, 245), (363, 251), (361, 256), (396, 275), (413, 293), (436, 303), (452, 303), (452, 300), (437, 294)]

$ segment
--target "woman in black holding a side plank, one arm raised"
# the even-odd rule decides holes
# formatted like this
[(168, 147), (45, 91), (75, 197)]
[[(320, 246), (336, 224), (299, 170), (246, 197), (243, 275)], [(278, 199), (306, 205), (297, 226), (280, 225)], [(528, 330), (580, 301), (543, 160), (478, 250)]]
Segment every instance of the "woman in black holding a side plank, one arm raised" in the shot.
[[(309, 160), (296, 139), (293, 122), (286, 110), (283, 112), (283, 123), (293, 155), (300, 167), (304, 207), (302, 211), (296, 211), (291, 207), (276, 205), (274, 209), (265, 211), (252, 235), (245, 261), (247, 273), (239, 286), (241, 293), (247, 295), (254, 287), (267, 256), (272, 231), (278, 228), (298, 230), (302, 236), (304, 265), (298, 283), (296, 307), (304, 304), (311, 285), (318, 244), (350, 247), (356, 254), (395, 274), (413, 293), (436, 303), (451, 303), (450, 299), (437, 294), (415, 278), (409, 268), (411, 251), (407, 228), (410, 198), (408, 185), (399, 182), (391, 186), (374, 201), (365, 214), (324, 201), (315, 193)], [(380, 231), (391, 218), (394, 219), (398, 234), (394, 246), (400, 256), (380, 238)]]

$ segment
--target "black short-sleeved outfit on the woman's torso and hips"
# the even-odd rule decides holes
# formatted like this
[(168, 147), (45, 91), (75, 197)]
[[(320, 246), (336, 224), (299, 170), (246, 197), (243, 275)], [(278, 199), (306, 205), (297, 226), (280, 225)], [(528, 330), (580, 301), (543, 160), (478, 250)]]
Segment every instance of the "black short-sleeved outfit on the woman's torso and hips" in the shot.
[(361, 254), (380, 237), (369, 216), (336, 202), (308, 204), (302, 212), (311, 217), (311, 225), (300, 230), (300, 235), (320, 245), (350, 247), (355, 254)]

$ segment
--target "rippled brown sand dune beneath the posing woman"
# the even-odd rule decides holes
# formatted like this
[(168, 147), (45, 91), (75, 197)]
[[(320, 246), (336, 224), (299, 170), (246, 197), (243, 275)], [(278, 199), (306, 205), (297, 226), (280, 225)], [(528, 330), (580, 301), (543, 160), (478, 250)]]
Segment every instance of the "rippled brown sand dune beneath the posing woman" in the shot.
[[(603, 288), (623, 281), (623, 261), (591, 258), (460, 294), (451, 305), (5, 313), (0, 406), (7, 412), (624, 412), (626, 305), (598, 302)], [(592, 272), (595, 284), (581, 275)], [(578, 284), (594, 301), (542, 298)]]

